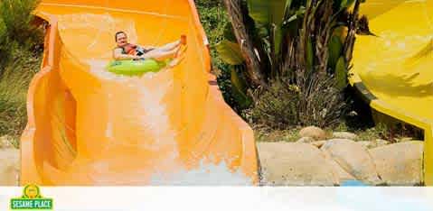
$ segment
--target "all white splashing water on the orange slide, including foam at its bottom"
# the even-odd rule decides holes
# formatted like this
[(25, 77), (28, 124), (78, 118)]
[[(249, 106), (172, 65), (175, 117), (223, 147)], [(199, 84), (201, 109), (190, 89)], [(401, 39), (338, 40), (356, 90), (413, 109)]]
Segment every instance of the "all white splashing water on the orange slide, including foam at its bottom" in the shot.
[[(126, 77), (119, 76), (108, 72), (104, 67), (107, 65), (107, 60), (87, 60), (90, 66), (90, 73), (95, 77), (106, 80), (108, 83), (107, 88), (115, 88), (116, 86), (126, 86), (137, 90), (137, 94), (141, 97), (136, 101), (137, 105), (143, 105), (143, 117), (136, 117), (142, 119), (143, 128), (148, 128), (152, 131), (156, 141), (163, 141), (162, 144), (174, 144), (175, 146), (175, 133), (172, 128), (166, 127), (169, 119), (167, 116), (167, 111), (165, 105), (161, 104), (161, 100), (164, 98), (166, 93), (170, 88), (173, 88), (173, 81), (166, 81), (166, 83), (161, 84), (156, 90), (146, 89), (146, 80), (158, 77), (158, 74), (165, 74), (163, 72), (159, 73), (146, 73), (141, 77)], [(168, 77), (170, 78), (170, 77)], [(108, 96), (113, 98), (116, 96)], [(146, 111), (146, 112), (145, 112)], [(146, 114), (145, 114), (146, 113)], [(146, 121), (147, 120), (147, 121)], [(149, 122), (148, 120), (152, 120)], [(108, 121), (110, 122), (110, 121)], [(114, 124), (114, 123), (112, 123)], [(113, 130), (115, 125), (108, 125), (107, 135), (113, 136)], [(160, 143), (160, 144), (161, 144)], [(146, 143), (146, 148), (152, 150), (152, 146), (160, 146), (155, 142), (154, 144)], [(143, 146), (141, 146), (143, 147)], [(151, 148), (149, 148), (151, 147)], [(161, 165), (170, 165), (174, 160), (178, 158), (177, 153), (173, 153), (166, 157), (165, 161), (161, 161)], [(99, 163), (100, 164), (100, 163)], [(246, 177), (240, 170), (232, 171), (227, 166), (225, 162), (220, 164), (209, 164), (200, 163), (199, 167), (193, 170), (179, 170), (175, 173), (164, 173), (155, 170), (155, 173), (150, 178), (150, 182), (146, 179), (145, 175), (148, 175), (148, 170), (136, 171), (134, 174), (126, 176), (125, 174), (111, 172), (107, 166), (95, 165), (95, 170), (99, 173), (107, 173), (110, 175), (109, 179), (105, 178), (99, 174), (99, 176), (94, 175), (95, 179), (100, 184), (118, 184), (122, 183), (120, 181), (126, 181), (132, 184), (150, 184), (157, 186), (250, 186), (253, 184), (249, 177)], [(127, 177), (127, 178), (126, 178)]]

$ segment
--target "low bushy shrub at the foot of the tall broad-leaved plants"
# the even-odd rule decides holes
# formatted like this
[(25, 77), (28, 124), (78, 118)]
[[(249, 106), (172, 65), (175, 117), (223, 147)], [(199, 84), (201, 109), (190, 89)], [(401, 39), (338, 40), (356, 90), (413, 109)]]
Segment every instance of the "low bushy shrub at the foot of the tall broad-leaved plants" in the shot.
[(344, 115), (344, 96), (331, 77), (319, 78), (312, 72), (297, 75), (297, 85), (277, 80), (256, 93), (252, 121), (270, 128), (296, 126), (336, 126)]

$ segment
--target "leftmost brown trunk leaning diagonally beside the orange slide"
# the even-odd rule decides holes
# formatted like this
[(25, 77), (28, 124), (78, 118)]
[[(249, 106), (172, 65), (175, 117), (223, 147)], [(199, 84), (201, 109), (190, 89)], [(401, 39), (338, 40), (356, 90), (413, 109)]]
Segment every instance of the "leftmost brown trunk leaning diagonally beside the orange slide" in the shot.
[(245, 58), (249, 80), (253, 87), (266, 85), (264, 77), (260, 72), (259, 58), (254, 52), (252, 39), (249, 37), (249, 33), (245, 27), (241, 0), (224, 0), (224, 5), (227, 8), (236, 40), (240, 44), (240, 51)]

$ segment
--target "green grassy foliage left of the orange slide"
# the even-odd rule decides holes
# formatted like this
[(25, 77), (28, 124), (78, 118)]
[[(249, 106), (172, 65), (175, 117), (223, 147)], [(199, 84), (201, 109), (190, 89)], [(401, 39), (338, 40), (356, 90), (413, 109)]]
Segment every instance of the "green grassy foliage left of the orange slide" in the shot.
[(33, 25), (38, 1), (0, 1), (0, 136), (18, 137), (27, 121), (26, 94), (39, 69), (42, 30)]

